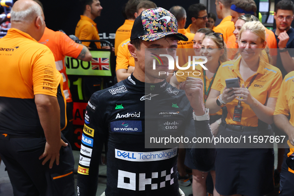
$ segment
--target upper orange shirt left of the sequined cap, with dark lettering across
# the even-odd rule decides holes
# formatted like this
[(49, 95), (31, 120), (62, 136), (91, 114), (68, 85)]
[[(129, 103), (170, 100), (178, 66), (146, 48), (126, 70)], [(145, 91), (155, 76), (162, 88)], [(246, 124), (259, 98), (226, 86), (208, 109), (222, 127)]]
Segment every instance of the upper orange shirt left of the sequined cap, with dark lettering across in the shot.
[(117, 55), (117, 48), (122, 41), (131, 37), (131, 31), (133, 28), (135, 20), (125, 20), (123, 25), (121, 25), (115, 32), (115, 43), (114, 43), (114, 51), (115, 56)]

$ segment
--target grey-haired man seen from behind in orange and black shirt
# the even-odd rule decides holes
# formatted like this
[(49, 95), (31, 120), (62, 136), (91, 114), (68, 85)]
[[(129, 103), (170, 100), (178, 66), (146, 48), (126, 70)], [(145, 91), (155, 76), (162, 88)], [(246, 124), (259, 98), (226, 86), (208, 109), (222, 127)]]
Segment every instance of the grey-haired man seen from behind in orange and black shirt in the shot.
[(50, 49), (37, 42), (45, 27), (41, 7), (18, 0), (0, 39), (0, 156), (15, 196), (75, 196), (74, 157), (56, 98), (60, 73)]

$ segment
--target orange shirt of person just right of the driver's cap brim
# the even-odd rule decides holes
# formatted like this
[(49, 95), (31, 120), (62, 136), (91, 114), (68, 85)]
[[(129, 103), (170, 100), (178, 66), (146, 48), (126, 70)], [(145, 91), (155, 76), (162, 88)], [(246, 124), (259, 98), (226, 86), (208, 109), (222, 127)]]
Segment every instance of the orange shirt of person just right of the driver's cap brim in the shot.
[[(183, 66), (188, 62), (188, 56), (195, 56), (193, 50), (193, 40), (194, 40), (194, 33), (189, 33), (185, 28), (179, 29), (179, 33), (182, 33), (188, 37), (188, 41), (179, 41), (178, 42), (178, 49), (177, 49), (177, 56), (179, 56), (179, 66)], [(175, 67), (175, 70), (178, 70)]]

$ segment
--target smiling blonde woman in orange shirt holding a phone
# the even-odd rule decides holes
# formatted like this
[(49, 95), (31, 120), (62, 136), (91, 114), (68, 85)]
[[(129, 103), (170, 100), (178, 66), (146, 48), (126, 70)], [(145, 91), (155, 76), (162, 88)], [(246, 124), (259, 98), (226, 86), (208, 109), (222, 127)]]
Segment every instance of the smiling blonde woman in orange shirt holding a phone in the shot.
[[(245, 23), (238, 43), (241, 58), (221, 64), (215, 76), (206, 107), (216, 112), (226, 106), (218, 131), (222, 137), (269, 134), (282, 74), (259, 60), (266, 46), (264, 28), (257, 21)], [(227, 89), (230, 78), (239, 78), (241, 88)], [(272, 148), (217, 149), (215, 189), (222, 196), (264, 196), (274, 189), (273, 167)]]

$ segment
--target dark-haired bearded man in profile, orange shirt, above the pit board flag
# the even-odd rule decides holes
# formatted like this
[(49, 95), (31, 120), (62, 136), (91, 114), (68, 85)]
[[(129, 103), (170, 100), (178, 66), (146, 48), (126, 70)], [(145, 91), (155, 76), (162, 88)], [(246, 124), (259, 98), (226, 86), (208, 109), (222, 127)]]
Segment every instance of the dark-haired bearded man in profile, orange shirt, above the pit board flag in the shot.
[[(102, 6), (99, 0), (82, 0), (84, 7), (84, 14), (81, 15), (81, 19), (76, 26), (75, 35), (80, 40), (100, 40), (97, 24), (94, 19), (101, 14)], [(109, 46), (102, 46), (100, 42), (96, 42), (96, 46), (90, 42), (82, 42), (85, 46), (90, 48), (105, 48), (109, 49)], [(114, 50), (114, 49), (113, 49)]]

